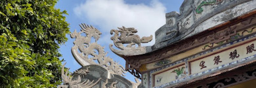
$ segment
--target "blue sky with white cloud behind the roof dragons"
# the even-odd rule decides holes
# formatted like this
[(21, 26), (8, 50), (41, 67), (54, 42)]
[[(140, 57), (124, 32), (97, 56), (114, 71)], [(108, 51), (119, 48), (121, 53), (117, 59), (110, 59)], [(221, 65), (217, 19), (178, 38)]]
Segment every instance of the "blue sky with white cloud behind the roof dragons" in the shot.
[[(110, 40), (110, 30), (117, 27), (134, 27), (138, 30), (140, 37), (155, 34), (155, 31), (165, 24), (165, 13), (171, 11), (179, 12), (183, 0), (59, 0), (56, 8), (67, 10), (69, 15), (66, 21), (70, 24), (70, 31), (79, 31), (78, 24), (86, 23), (93, 25), (102, 33), (97, 43), (105, 46), (105, 51), (120, 65), (125, 67), (125, 60), (110, 51), (108, 45), (113, 42)], [(61, 52), (66, 67), (73, 72), (81, 66), (75, 61), (71, 47), (74, 46), (75, 39), (67, 35), (68, 41), (61, 45)], [(153, 39), (143, 46), (151, 46), (155, 43)], [(125, 78), (134, 81), (134, 76), (129, 72)]]

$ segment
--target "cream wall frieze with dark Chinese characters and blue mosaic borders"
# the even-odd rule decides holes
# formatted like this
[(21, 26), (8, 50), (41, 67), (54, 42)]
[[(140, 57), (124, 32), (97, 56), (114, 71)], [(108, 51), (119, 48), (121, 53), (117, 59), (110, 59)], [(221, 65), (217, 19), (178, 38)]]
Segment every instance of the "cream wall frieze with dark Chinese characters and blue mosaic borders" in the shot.
[[(149, 88), (164, 87), (186, 80), (189, 81), (203, 74), (256, 60), (256, 50), (249, 50), (249, 48), (254, 49), (254, 44), (256, 44), (255, 32), (251, 36), (222, 44), (216, 48), (183, 58), (183, 60), (176, 63), (166, 64), (150, 70)], [(184, 69), (181, 70), (182, 67)]]

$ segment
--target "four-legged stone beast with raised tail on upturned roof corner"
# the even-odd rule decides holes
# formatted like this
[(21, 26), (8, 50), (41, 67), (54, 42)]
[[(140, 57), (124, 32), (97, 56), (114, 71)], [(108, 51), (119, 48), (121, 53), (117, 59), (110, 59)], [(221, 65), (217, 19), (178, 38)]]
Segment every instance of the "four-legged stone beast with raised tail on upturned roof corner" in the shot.
[[(120, 50), (114, 49), (112, 44), (109, 45), (111, 51), (116, 53), (117, 55), (139, 55), (146, 53), (145, 47), (141, 47), (141, 43), (148, 43), (153, 39), (153, 36), (150, 37), (142, 37), (140, 38), (139, 35), (135, 35), (138, 31), (135, 28), (126, 28), (124, 26), (117, 27), (119, 30), (112, 29), (110, 34), (114, 36), (111, 37), (113, 40), (114, 45), (119, 48)], [(119, 36), (120, 33), (120, 36)], [(124, 46), (123, 44), (127, 44)], [(136, 47), (136, 45), (138, 47)]]

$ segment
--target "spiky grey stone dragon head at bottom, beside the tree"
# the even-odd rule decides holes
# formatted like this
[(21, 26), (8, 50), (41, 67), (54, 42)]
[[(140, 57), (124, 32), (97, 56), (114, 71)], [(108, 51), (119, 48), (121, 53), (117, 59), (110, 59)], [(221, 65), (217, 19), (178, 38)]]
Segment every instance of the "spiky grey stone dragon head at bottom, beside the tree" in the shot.
[(81, 77), (87, 75), (89, 69), (82, 69), (82, 70), (76, 70), (74, 73), (75, 75), (78, 75), (76, 79), (73, 79), (74, 76), (71, 76), (71, 74), (68, 75), (68, 70), (64, 73), (64, 66), (66, 63), (63, 64), (61, 69), (61, 78), (64, 82), (62, 85), (59, 85), (58, 88), (91, 88), (95, 86), (100, 80), (98, 79), (96, 82), (90, 80), (81, 81)]

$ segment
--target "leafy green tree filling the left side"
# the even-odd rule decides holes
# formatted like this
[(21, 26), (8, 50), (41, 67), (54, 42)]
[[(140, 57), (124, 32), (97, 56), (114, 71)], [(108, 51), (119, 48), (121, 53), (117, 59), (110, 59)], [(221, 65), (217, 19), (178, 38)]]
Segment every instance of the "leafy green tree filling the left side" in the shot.
[(0, 87), (56, 87), (70, 33), (57, 0), (0, 0)]

